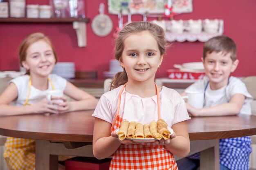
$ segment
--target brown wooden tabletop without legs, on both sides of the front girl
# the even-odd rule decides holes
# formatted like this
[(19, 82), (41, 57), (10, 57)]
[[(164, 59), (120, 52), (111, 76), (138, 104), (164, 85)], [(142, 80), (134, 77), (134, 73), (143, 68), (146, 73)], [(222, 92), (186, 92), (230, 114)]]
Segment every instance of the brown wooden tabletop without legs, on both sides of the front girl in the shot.
[[(92, 142), (94, 110), (63, 114), (4, 116), (0, 135), (53, 141)], [(256, 116), (192, 117), (190, 140), (224, 139), (256, 134)]]

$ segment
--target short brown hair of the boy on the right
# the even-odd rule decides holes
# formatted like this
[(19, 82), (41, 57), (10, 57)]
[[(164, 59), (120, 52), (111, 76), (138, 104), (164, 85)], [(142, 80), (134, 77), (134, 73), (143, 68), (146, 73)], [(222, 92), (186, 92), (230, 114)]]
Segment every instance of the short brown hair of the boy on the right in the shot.
[(205, 59), (207, 53), (218, 53), (220, 51), (224, 53), (224, 55), (230, 53), (230, 57), (233, 62), (236, 60), (236, 43), (225, 35), (213, 37), (204, 43), (203, 59)]

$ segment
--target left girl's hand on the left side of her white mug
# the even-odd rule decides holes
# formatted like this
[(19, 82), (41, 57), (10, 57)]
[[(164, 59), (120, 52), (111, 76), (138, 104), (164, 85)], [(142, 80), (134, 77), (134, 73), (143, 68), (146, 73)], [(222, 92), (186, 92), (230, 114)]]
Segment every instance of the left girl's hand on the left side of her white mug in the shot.
[(49, 104), (47, 98), (43, 98), (40, 102), (31, 105), (35, 113), (55, 113), (58, 114), (58, 108), (52, 104)]

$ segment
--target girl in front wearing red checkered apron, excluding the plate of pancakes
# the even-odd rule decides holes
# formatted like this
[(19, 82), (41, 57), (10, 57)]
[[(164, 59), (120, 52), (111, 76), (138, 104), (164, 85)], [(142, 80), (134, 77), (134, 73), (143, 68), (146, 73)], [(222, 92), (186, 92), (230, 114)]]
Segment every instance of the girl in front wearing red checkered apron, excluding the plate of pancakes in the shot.
[[(103, 94), (95, 117), (93, 153), (98, 159), (112, 156), (110, 170), (176, 170), (173, 155), (189, 153), (184, 100), (173, 89), (154, 83), (167, 46), (164, 30), (150, 22), (131, 22), (119, 32), (115, 57), (124, 68), (112, 81), (112, 91)], [(170, 139), (152, 143), (120, 141), (116, 130), (124, 119), (142, 124), (164, 119), (174, 132)]]

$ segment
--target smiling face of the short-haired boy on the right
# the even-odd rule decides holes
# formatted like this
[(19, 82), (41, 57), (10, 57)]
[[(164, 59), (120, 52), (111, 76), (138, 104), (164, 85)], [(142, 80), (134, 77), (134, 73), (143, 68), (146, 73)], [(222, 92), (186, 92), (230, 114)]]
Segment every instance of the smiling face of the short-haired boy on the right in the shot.
[(227, 85), (230, 73), (236, 70), (238, 60), (231, 60), (230, 53), (224, 55), (220, 52), (207, 53), (203, 64), (206, 75), (210, 79), (211, 89), (217, 90)]

